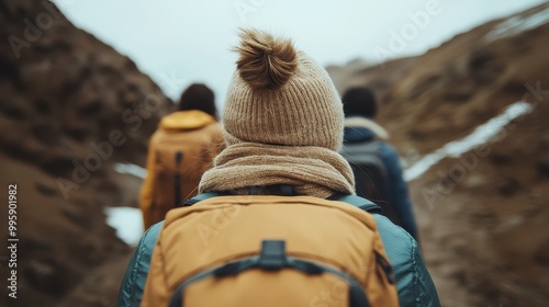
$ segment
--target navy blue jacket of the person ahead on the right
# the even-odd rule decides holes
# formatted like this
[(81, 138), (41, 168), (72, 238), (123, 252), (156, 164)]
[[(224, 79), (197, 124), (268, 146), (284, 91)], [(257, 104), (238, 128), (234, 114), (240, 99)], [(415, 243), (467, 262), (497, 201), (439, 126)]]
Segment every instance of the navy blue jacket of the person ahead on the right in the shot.
[[(345, 127), (344, 145), (345, 143), (368, 143), (373, 139), (376, 139), (376, 134), (369, 128)], [(350, 155), (352, 156), (352, 152)], [(412, 212), (407, 184), (402, 177), (399, 155), (391, 145), (383, 141), (380, 145), (380, 156), (388, 172), (388, 201), (399, 215), (402, 221), (401, 226), (418, 241), (417, 225)]]

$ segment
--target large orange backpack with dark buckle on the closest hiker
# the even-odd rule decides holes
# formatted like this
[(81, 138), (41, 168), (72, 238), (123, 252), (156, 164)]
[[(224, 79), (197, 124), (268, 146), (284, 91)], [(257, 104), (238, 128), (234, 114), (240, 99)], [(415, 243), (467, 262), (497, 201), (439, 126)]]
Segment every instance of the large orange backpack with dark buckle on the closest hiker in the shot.
[(206, 193), (186, 202), (198, 203), (168, 213), (142, 306), (399, 306), (365, 211), (379, 207), (336, 200)]

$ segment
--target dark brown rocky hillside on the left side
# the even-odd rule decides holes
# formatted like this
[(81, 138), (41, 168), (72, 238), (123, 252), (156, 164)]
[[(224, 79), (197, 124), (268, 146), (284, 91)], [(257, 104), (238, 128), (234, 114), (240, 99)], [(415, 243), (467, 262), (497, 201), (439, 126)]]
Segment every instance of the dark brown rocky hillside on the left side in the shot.
[[(55, 306), (93, 268), (127, 257), (102, 209), (135, 205), (139, 182), (113, 164), (144, 164), (148, 137), (172, 103), (49, 1), (0, 1), (0, 195), (5, 203), (8, 184), (16, 184), (16, 303)], [(7, 213), (5, 205), (3, 242)]]

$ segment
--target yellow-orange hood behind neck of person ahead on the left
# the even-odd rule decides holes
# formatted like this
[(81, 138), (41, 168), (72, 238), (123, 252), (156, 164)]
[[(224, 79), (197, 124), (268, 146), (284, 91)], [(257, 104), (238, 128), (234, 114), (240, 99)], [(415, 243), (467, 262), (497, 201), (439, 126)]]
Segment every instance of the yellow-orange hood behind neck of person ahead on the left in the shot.
[(215, 118), (202, 111), (178, 111), (165, 116), (158, 126), (165, 130), (190, 130), (215, 122)]

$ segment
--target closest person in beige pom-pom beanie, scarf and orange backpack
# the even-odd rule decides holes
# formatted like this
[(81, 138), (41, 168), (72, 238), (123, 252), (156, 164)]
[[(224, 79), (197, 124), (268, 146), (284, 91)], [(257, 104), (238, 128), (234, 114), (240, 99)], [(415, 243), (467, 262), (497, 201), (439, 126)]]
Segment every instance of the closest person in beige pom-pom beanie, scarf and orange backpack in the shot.
[(227, 147), (142, 237), (117, 306), (439, 306), (416, 241), (352, 195), (327, 72), (289, 39), (240, 38)]

